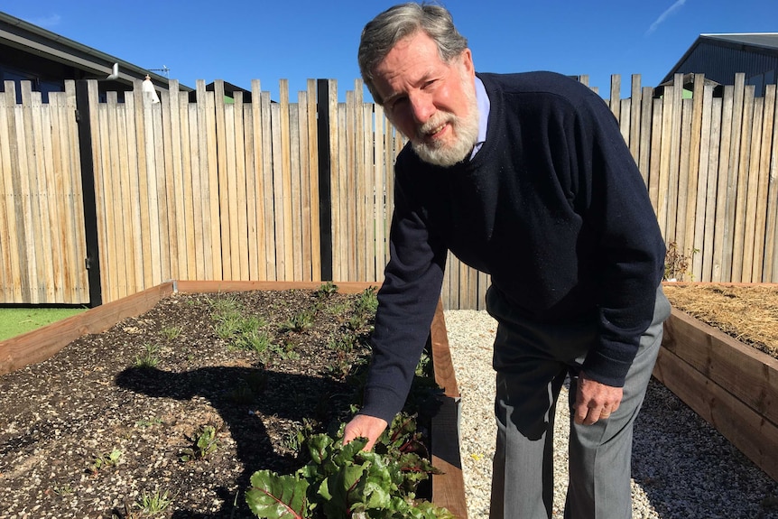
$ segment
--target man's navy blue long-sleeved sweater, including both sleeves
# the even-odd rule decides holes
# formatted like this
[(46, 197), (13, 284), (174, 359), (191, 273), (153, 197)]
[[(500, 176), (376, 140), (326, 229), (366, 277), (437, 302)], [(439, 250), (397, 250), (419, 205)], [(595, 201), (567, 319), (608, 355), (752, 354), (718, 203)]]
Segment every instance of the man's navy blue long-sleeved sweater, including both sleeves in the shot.
[(362, 413), (391, 422), (440, 298), (447, 251), (491, 274), (531, 320), (595, 320), (584, 370), (624, 385), (653, 317), (664, 243), (644, 181), (604, 101), (550, 72), (478, 74), (486, 143), (440, 168), (395, 164), (391, 259), (378, 294)]

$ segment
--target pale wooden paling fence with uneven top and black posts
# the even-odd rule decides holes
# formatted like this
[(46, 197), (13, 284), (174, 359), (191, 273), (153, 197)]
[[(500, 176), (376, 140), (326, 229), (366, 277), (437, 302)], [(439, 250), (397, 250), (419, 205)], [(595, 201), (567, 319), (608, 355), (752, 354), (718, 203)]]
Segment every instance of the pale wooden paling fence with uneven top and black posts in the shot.
[[(680, 77), (676, 83), (680, 85)], [(586, 82), (586, 77), (582, 78)], [(338, 102), (310, 79), (296, 102), (198, 81), (195, 99), (141, 82), (123, 102), (67, 82), (49, 103), (0, 92), (0, 303), (95, 304), (171, 279), (380, 283), (393, 163), (403, 145), (361, 81)], [(775, 86), (743, 75), (714, 97), (698, 80), (607, 103), (668, 243), (695, 281), (778, 282)], [(229, 94), (229, 93), (228, 93)], [(230, 94), (232, 95), (232, 94)], [(483, 306), (488, 276), (449, 258), (446, 308)]]

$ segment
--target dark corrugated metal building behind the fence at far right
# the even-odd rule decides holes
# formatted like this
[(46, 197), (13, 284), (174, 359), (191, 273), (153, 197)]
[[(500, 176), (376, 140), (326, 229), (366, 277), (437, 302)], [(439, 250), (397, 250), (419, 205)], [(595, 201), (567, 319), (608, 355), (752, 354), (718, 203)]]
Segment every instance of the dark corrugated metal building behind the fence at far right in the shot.
[(778, 32), (700, 34), (661, 83), (677, 73), (704, 74), (722, 85), (732, 85), (736, 73), (746, 84), (762, 88), (778, 77)]

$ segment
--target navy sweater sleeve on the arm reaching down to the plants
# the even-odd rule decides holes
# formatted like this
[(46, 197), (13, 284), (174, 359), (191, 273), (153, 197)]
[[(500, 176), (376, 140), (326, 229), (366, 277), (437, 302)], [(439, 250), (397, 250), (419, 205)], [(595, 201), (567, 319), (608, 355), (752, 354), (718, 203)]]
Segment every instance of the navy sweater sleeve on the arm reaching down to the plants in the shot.
[(429, 338), (446, 262), (445, 246), (435, 243), (420, 211), (412, 208), (399, 173), (394, 198), (390, 260), (378, 292), (373, 358), (360, 411), (389, 423), (403, 409)]

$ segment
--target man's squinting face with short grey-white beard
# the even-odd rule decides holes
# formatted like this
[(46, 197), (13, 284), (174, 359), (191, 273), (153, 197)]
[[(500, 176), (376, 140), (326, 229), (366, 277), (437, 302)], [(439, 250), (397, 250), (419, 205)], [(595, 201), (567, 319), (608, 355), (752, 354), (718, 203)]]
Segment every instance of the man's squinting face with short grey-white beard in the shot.
[(394, 45), (375, 68), (386, 116), (425, 162), (450, 166), (473, 150), (478, 136), (475, 69), (470, 50), (451, 62), (419, 31)]

